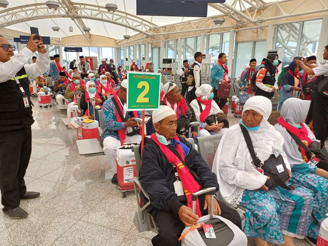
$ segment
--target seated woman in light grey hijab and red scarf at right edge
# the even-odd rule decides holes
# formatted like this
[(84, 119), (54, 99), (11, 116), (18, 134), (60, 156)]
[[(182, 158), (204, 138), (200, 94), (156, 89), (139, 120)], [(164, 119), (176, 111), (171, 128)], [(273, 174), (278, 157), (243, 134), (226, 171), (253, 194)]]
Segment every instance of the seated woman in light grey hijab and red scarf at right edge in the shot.
[(326, 218), (325, 215), (328, 212), (327, 166), (320, 164), (320, 162), (314, 165), (311, 159), (306, 156), (305, 150), (288, 133), (294, 134), (307, 147), (314, 141), (320, 142), (308, 126), (303, 123), (309, 107), (310, 101), (308, 100), (294, 97), (285, 100), (280, 112), (281, 117), (278, 118), (275, 129), (283, 136), (283, 150), (292, 167), (293, 177), (290, 182), (304, 186), (313, 192), (317, 206), (313, 208), (314, 219), (310, 224), (306, 239), (316, 245), (321, 222)]

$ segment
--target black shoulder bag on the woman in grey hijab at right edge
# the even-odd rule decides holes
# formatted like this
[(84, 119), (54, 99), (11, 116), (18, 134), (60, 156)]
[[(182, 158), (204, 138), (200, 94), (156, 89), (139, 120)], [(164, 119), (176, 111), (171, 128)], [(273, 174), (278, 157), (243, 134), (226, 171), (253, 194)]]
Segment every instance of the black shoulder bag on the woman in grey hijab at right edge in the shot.
[(328, 171), (328, 151), (326, 147), (317, 141), (312, 141), (309, 147), (307, 147), (296, 135), (287, 131), (289, 135), (301, 146), (305, 152), (306, 157), (310, 160), (313, 157), (317, 157), (320, 161), (317, 164), (318, 168)]

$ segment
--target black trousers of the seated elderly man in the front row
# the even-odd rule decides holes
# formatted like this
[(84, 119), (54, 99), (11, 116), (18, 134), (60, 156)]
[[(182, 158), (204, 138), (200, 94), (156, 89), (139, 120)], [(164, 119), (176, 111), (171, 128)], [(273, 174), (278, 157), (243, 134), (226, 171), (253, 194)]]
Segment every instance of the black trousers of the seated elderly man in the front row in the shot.
[[(202, 215), (207, 215), (207, 210), (204, 210), (204, 199), (205, 195), (198, 197), (200, 211)], [(236, 226), (241, 229), (241, 219), (238, 212), (226, 204), (218, 202), (221, 208), (222, 217), (229, 219)], [(152, 238), (152, 243), (154, 246), (180, 246), (181, 242), (178, 238), (181, 232), (185, 228), (185, 225), (180, 220), (178, 215), (174, 215), (172, 212), (159, 211), (154, 208), (152, 211), (152, 216), (154, 217), (157, 227), (158, 234)]]

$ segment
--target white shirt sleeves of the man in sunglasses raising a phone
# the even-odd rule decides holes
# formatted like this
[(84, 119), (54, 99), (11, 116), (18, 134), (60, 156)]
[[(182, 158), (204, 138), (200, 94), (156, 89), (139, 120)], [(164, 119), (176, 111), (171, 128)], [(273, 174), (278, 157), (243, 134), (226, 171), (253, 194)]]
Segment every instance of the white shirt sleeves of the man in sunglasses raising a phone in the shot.
[(16, 75), (24, 66), (29, 79), (35, 79), (47, 72), (50, 66), (50, 58), (47, 53), (39, 53), (36, 63), (26, 64), (33, 52), (25, 47), (21, 52), (10, 57), (7, 62), (0, 62), (0, 83), (6, 82)]

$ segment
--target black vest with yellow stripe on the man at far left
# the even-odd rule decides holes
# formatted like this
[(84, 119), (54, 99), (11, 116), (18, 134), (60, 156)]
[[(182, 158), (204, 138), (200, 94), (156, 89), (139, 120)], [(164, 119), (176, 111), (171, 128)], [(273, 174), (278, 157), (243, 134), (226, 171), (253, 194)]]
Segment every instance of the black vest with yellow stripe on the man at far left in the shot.
[(22, 85), (25, 95), (29, 98), (30, 107), (25, 108), (23, 94), (14, 78), (0, 83), (0, 132), (27, 128), (34, 123), (30, 100), (30, 81), (24, 67), (16, 73), (16, 77)]

